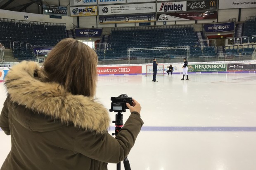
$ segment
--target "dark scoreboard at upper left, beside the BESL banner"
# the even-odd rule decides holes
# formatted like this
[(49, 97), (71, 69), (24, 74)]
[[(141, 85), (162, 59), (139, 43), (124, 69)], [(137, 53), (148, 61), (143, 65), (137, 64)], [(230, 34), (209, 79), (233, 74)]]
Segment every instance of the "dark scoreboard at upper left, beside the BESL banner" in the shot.
[(43, 5), (43, 14), (68, 16), (67, 7)]

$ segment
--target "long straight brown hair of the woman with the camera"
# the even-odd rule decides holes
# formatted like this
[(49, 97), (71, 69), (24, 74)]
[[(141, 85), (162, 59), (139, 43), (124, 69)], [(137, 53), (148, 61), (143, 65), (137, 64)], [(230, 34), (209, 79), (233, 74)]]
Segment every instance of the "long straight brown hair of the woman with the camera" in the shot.
[(83, 42), (61, 40), (48, 54), (43, 70), (50, 82), (62, 84), (74, 95), (94, 97), (98, 56)]

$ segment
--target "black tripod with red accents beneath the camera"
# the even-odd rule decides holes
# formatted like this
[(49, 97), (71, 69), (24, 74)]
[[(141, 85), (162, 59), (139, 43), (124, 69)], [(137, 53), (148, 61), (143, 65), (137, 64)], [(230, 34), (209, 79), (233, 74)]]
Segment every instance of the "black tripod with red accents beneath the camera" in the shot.
[[(118, 112), (116, 114), (116, 120), (112, 121), (113, 123), (115, 123), (115, 133), (112, 133), (112, 135), (117, 135), (119, 133), (119, 131), (121, 130), (121, 128), (123, 128), (123, 114), (121, 114), (120, 112)], [(123, 165), (124, 165), (124, 169), (125, 170), (131, 170), (130, 169), (130, 163), (128, 161), (128, 158), (126, 156), (126, 158), (123, 160)], [(116, 170), (121, 170), (121, 162), (116, 164)]]

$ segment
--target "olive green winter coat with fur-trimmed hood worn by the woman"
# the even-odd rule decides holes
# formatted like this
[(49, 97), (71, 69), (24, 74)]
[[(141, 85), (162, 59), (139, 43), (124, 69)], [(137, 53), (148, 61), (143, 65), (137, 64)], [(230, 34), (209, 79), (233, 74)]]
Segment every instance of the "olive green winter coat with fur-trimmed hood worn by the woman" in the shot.
[(15, 65), (5, 78), (0, 127), (12, 148), (1, 170), (107, 170), (123, 161), (142, 127), (140, 114), (130, 114), (114, 138), (103, 105), (44, 78), (34, 62)]

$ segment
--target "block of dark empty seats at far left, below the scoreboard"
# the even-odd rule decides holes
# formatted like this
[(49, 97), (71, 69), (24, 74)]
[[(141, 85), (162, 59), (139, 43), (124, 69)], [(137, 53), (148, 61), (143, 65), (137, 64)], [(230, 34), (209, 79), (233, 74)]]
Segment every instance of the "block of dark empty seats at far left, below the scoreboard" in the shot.
[[(14, 58), (18, 60), (33, 60), (35, 56), (32, 52), (32, 46), (51, 47), (55, 46), (60, 40), (66, 38), (66, 26), (52, 26), (14, 22), (0, 21), (0, 40), (7, 48), (13, 48)], [(22, 42), (20, 46), (13, 46), (9, 42)]]

